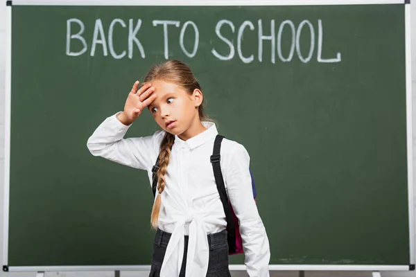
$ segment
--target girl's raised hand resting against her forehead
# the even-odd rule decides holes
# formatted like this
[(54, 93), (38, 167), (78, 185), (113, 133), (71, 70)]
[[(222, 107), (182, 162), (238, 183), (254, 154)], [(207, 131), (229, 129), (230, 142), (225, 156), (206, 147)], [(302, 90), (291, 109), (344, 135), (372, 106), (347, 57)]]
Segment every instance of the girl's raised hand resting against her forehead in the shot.
[(152, 94), (155, 88), (148, 83), (137, 90), (139, 81), (133, 84), (132, 90), (128, 93), (127, 100), (125, 100), (124, 111), (117, 115), (117, 119), (124, 125), (130, 125), (135, 121), (148, 105), (155, 100), (156, 95)]

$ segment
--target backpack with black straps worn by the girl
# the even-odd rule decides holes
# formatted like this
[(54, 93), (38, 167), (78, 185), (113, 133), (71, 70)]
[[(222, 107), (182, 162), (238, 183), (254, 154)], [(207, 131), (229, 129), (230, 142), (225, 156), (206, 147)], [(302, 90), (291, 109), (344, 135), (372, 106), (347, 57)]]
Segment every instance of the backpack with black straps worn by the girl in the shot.
[[(220, 136), (219, 134), (216, 136), (214, 141), (214, 150), (210, 157), (212, 169), (214, 170), (214, 177), (216, 181), (216, 186), (218, 193), (220, 195), (221, 203), (223, 203), (223, 208), (225, 212), (225, 219), (227, 220), (227, 242), (228, 242), (228, 254), (240, 254), (243, 253), (243, 239), (240, 235), (239, 229), (239, 219), (236, 217), (231, 204), (229, 203), (229, 199), (227, 197), (227, 190), (225, 189), (223, 173), (221, 172), (220, 167), (220, 150), (221, 150), (221, 142), (223, 141), (224, 136)], [(159, 157), (157, 157), (155, 166), (152, 168), (153, 172), (153, 197), (156, 196), (156, 188), (157, 188), (157, 170), (159, 169)], [(256, 186), (254, 184), (254, 178), (252, 172), (250, 170), (250, 177), (252, 181), (252, 190), (253, 190), (253, 197), (254, 201), (257, 196)]]

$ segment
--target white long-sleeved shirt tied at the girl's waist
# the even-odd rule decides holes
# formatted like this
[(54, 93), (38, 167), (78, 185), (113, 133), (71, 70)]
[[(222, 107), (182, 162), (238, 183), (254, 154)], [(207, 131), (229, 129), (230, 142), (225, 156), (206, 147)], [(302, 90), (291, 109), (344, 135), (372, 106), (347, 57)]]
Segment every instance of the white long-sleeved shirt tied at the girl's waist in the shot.
[[(171, 150), (159, 213), (159, 229), (172, 233), (162, 264), (162, 277), (179, 276), (184, 235), (189, 235), (186, 276), (206, 276), (207, 234), (223, 231), (227, 226), (209, 159), (218, 132), (214, 123), (202, 124), (207, 130), (187, 141), (175, 136)], [(94, 156), (147, 170), (151, 185), (152, 167), (165, 133), (158, 131), (153, 136), (123, 139), (130, 126), (123, 125), (114, 114), (98, 126), (87, 147)], [(227, 195), (240, 222), (247, 272), (250, 277), (268, 277), (270, 247), (253, 199), (250, 157), (243, 145), (227, 139), (221, 144), (220, 155)]]

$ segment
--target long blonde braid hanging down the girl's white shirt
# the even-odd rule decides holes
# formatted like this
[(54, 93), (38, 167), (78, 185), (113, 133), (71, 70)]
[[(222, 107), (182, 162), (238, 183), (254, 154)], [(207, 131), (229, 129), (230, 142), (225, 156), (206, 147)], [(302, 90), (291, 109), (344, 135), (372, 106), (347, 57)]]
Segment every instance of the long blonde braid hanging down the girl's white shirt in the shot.
[(174, 142), (175, 136), (166, 132), (160, 145), (159, 170), (157, 170), (157, 191), (159, 194), (156, 197), (155, 204), (153, 204), (152, 219), (150, 221), (152, 223), (153, 229), (157, 229), (160, 206), (162, 205), (162, 199), (160, 195), (163, 193), (166, 184), (164, 175), (166, 174), (168, 168), (169, 158), (171, 157), (171, 149)]

